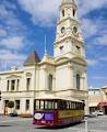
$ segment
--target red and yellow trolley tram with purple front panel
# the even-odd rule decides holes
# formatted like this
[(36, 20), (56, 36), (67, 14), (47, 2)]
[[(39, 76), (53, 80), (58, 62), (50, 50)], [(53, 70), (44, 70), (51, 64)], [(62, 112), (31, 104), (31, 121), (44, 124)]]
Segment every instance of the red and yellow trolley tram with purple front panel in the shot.
[(84, 118), (84, 103), (74, 98), (36, 98), (33, 123), (59, 127), (80, 122)]

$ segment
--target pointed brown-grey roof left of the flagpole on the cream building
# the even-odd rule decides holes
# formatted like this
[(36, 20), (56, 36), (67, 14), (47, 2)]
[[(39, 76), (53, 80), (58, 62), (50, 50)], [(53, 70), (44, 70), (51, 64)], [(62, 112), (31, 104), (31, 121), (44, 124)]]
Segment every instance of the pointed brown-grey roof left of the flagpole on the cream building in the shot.
[(34, 51), (33, 53), (31, 53), (28, 55), (27, 59), (24, 63), (24, 66), (35, 65), (39, 62), (40, 62), (40, 59), (39, 59), (37, 53)]

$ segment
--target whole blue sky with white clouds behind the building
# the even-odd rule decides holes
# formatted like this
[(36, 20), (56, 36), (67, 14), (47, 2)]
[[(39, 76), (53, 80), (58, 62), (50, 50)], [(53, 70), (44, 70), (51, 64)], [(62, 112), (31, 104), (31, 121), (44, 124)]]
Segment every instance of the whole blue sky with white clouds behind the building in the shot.
[[(0, 70), (21, 66), (35, 48), (52, 55), (60, 0), (0, 0)], [(88, 86), (107, 85), (107, 0), (78, 0), (85, 40)]]

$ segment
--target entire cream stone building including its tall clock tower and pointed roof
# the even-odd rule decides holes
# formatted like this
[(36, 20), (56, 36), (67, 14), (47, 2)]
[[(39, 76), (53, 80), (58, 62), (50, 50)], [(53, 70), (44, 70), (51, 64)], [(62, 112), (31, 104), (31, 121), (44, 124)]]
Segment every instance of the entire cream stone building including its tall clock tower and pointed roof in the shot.
[[(74, 0), (62, 0), (57, 22), (54, 56), (45, 52), (41, 61), (32, 53), (23, 69), (13, 67), (0, 73), (0, 113), (9, 100), (14, 101), (19, 114), (34, 111), (34, 99), (51, 94), (86, 101), (87, 75), (84, 40), (78, 20)], [(87, 108), (87, 107), (86, 107)]]

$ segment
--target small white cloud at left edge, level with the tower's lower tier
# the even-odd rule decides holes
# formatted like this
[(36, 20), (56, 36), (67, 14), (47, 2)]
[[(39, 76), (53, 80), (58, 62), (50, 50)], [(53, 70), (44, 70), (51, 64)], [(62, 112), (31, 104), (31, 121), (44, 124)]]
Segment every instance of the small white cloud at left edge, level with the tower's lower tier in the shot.
[(0, 45), (5, 46), (7, 48), (10, 50), (21, 50), (24, 45), (22, 36), (10, 36), (7, 38), (1, 40)]

